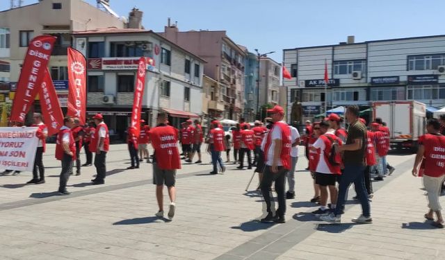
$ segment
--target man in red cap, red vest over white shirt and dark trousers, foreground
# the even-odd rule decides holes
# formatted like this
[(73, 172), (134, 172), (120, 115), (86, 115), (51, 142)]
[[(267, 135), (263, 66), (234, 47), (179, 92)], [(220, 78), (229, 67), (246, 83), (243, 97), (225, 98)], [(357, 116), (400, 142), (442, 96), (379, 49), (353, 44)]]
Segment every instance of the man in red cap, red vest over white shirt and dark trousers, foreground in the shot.
[[(261, 219), (262, 223), (285, 223), (286, 198), (284, 189), (286, 184), (286, 173), (291, 169), (291, 130), (289, 125), (284, 123), (284, 110), (279, 105), (267, 110), (273, 121), (273, 126), (266, 137), (264, 145), (264, 155), (266, 167), (263, 179), (261, 180), (261, 193), (266, 202), (267, 216)], [(270, 186), (275, 181), (275, 191), (277, 192), (278, 209), (275, 216), (271, 210)]]

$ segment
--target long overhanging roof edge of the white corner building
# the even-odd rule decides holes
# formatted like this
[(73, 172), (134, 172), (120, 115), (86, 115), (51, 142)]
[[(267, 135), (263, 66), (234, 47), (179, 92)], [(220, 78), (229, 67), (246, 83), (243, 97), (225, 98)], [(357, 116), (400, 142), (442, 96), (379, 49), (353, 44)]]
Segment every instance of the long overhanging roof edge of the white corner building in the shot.
[(89, 36), (89, 35), (108, 35), (108, 34), (134, 34), (134, 33), (147, 33), (154, 35), (155, 37), (161, 38), (164, 42), (168, 42), (168, 44), (175, 46), (177, 49), (180, 49), (181, 51), (184, 51), (186, 53), (189, 53), (194, 56), (194, 58), (197, 58), (198, 60), (201, 60), (202, 62), (206, 62), (203, 58), (201, 58), (198, 55), (195, 55), (191, 51), (187, 51), (186, 49), (182, 48), (181, 46), (175, 44), (174, 42), (170, 42), (165, 37), (160, 35), (159, 33), (154, 33), (152, 30), (145, 30), (145, 29), (137, 29), (137, 28), (116, 28), (116, 27), (107, 27), (107, 28), (97, 28), (93, 30), (88, 31), (74, 31), (72, 34), (76, 36)]

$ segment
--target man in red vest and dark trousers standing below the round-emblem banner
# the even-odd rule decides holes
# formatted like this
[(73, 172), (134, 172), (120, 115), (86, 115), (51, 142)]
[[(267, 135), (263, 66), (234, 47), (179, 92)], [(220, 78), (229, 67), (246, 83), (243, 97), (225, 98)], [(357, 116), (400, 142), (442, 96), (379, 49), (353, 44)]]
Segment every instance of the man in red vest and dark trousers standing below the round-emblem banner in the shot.
[(73, 160), (76, 159), (76, 143), (71, 131), (74, 126), (74, 119), (65, 117), (63, 124), (63, 127), (58, 132), (56, 142), (56, 159), (62, 161), (58, 193), (60, 195), (69, 195), (71, 193), (67, 191), (67, 182), (72, 173)]

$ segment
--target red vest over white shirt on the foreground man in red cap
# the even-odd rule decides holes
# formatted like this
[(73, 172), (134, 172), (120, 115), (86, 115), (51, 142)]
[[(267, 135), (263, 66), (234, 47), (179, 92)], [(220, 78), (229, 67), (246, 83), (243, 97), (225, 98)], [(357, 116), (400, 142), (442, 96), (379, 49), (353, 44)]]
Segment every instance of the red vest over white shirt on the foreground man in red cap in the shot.
[(292, 148), (292, 140), (291, 140), (291, 129), (289, 125), (283, 122), (276, 122), (273, 124), (272, 129), (270, 129), (269, 134), (266, 139), (266, 146), (264, 146), (264, 157), (266, 162), (268, 161), (268, 150), (270, 145), (272, 144), (272, 132), (275, 128), (280, 128), (281, 137), (282, 137), (282, 149), (280, 153), (280, 160), (284, 168), (290, 170), (291, 169), (291, 148)]

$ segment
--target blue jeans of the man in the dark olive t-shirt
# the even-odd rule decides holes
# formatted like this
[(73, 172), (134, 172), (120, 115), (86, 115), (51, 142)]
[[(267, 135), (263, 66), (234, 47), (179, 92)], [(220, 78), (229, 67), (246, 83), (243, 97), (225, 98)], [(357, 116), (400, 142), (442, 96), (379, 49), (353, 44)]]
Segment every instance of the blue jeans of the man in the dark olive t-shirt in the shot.
[(364, 166), (362, 165), (345, 165), (343, 174), (341, 175), (339, 184), (339, 198), (337, 200), (337, 207), (334, 214), (340, 215), (341, 211), (348, 197), (348, 189), (350, 184), (355, 184), (357, 196), (359, 197), (360, 204), (362, 204), (363, 216), (371, 216), (371, 207), (369, 206), (368, 194), (364, 187)]

